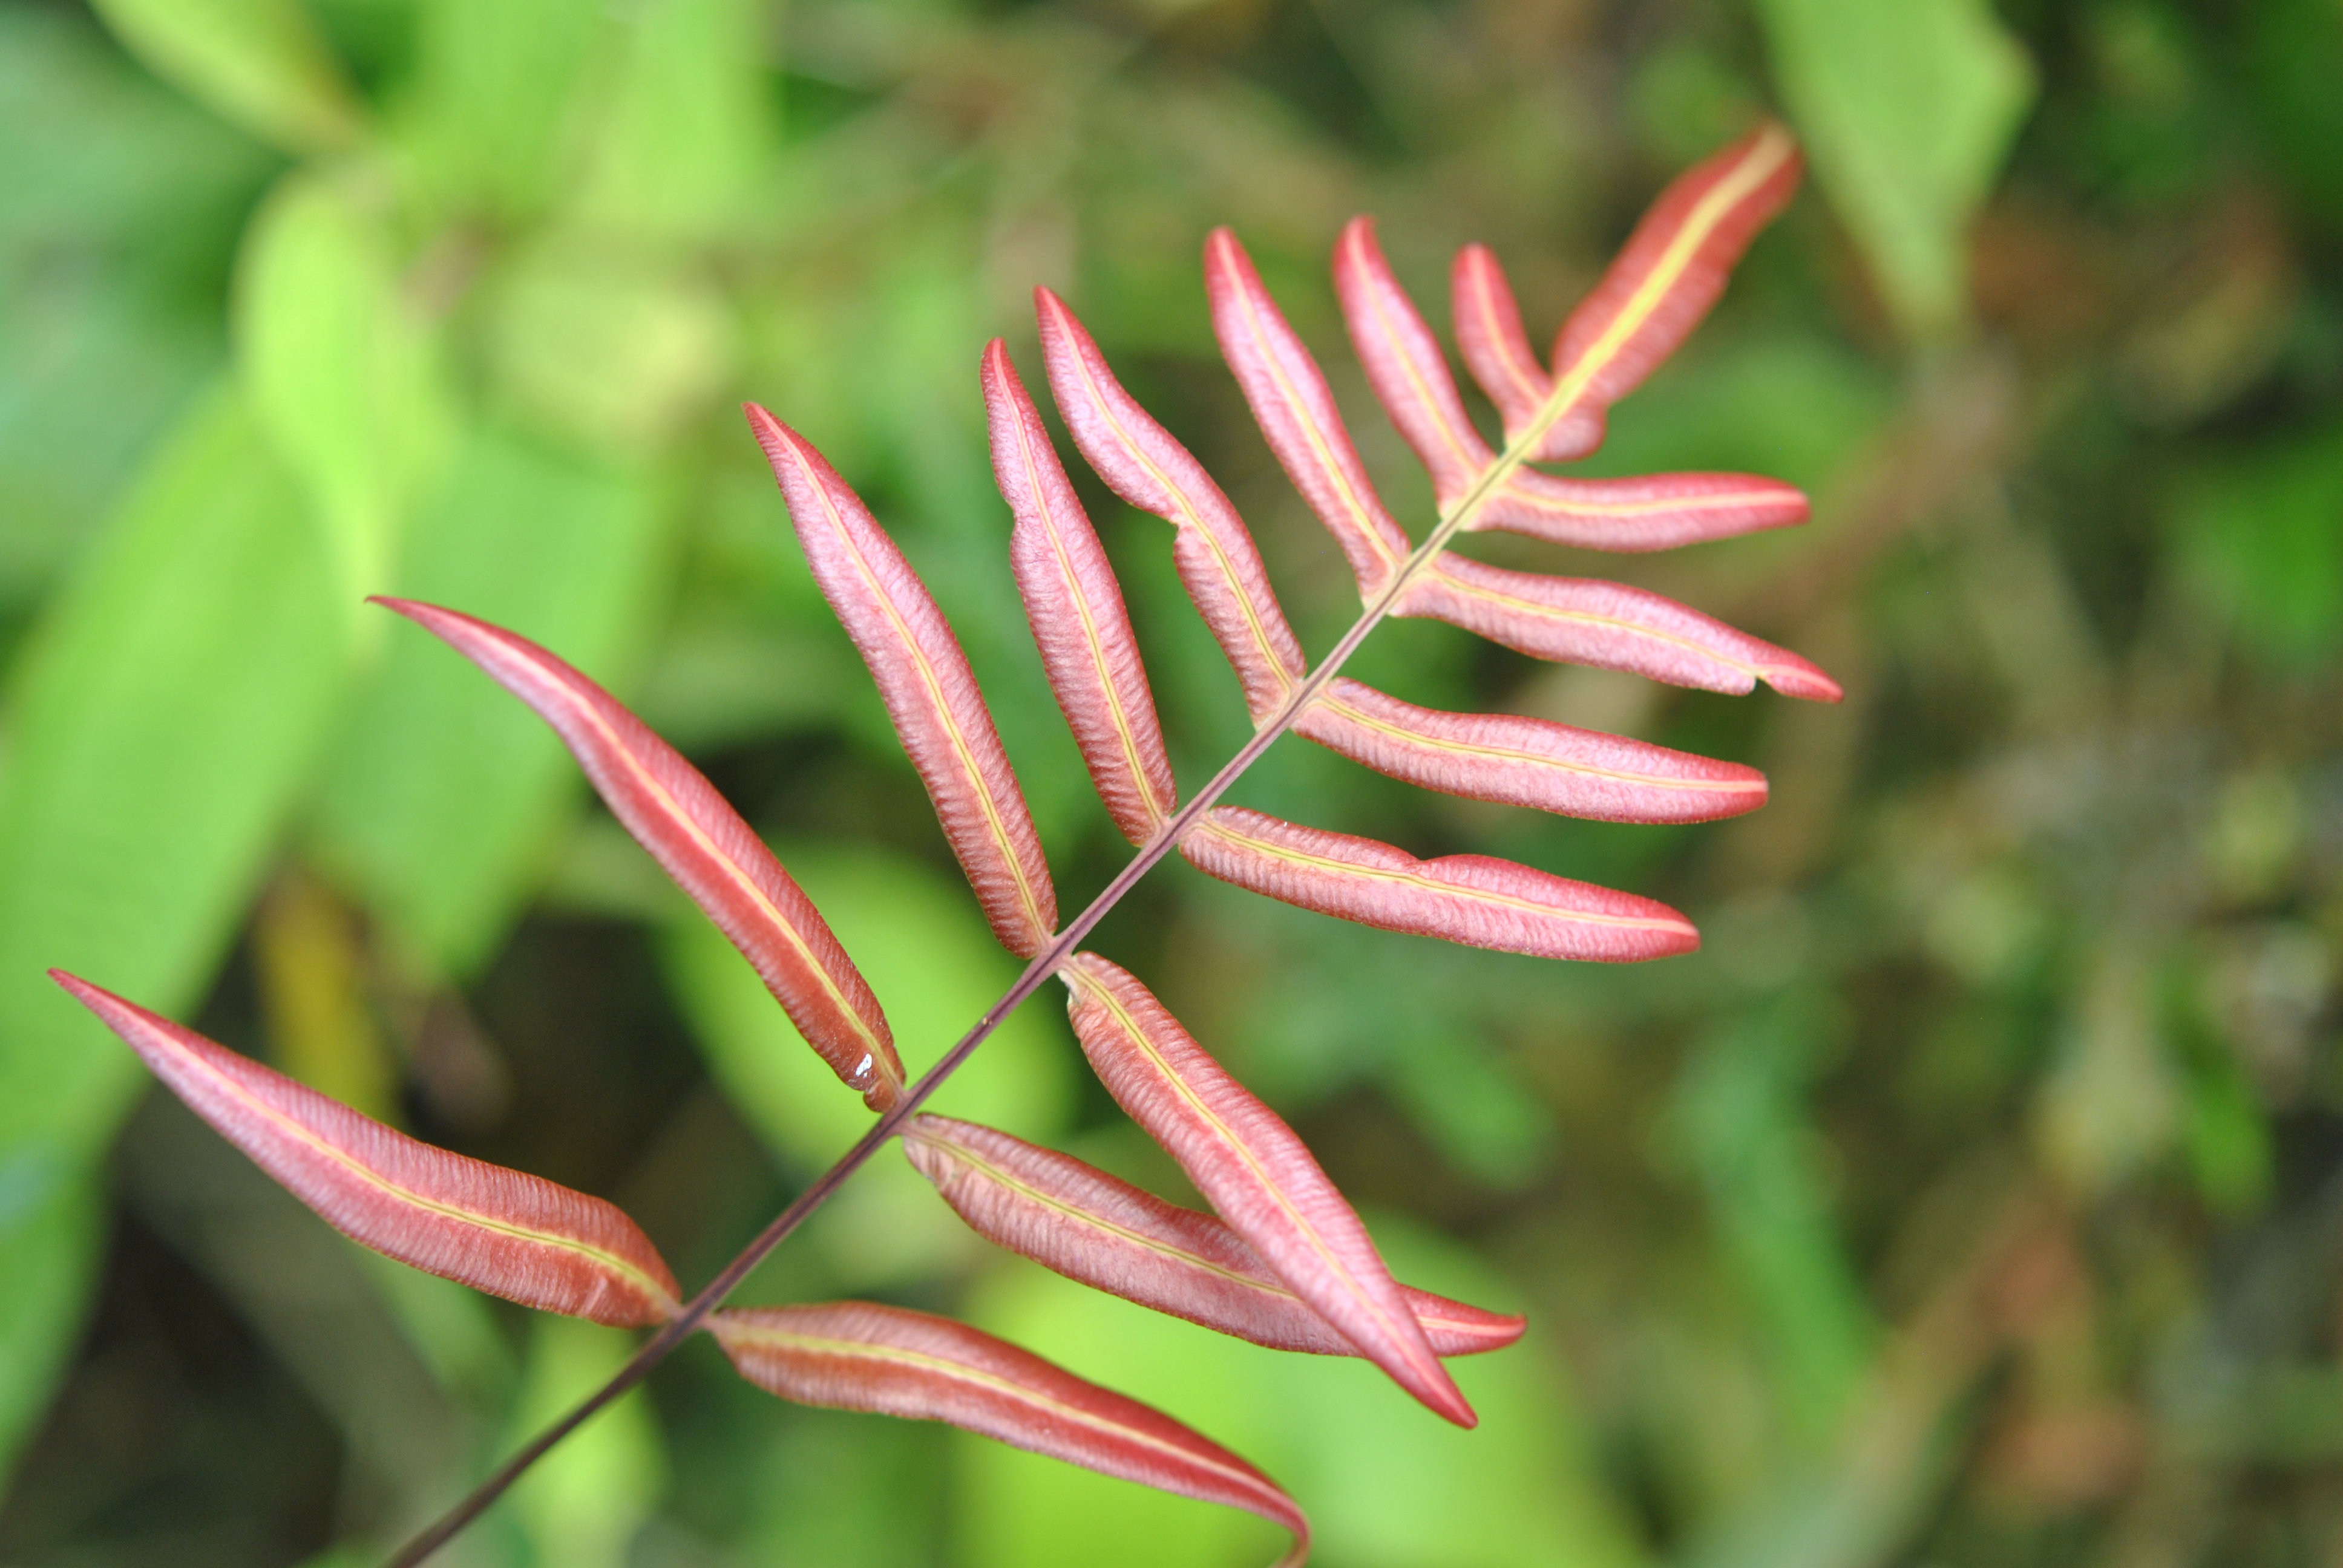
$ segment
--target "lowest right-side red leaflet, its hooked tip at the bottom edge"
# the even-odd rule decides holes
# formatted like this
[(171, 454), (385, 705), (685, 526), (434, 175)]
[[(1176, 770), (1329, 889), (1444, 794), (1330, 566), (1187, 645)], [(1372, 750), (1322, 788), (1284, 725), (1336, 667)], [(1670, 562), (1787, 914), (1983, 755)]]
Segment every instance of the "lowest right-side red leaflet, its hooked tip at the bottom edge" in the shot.
[(794, 1404), (944, 1420), (1017, 1448), (1261, 1514), (1310, 1556), (1303, 1509), (1242, 1458), (1162, 1411), (944, 1317), (839, 1301), (715, 1313), (708, 1329), (750, 1383)]

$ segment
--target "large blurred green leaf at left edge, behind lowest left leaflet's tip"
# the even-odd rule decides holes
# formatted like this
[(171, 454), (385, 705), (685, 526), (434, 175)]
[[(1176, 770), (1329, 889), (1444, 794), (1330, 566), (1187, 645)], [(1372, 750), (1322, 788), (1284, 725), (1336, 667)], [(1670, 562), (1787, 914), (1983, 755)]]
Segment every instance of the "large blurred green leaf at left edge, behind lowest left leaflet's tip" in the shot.
[[(23, 1216), (70, 1202), (59, 1193), (77, 1191), (141, 1080), (42, 970), (164, 1010), (197, 996), (342, 687), (330, 593), (298, 490), (234, 394), (216, 394), (16, 670), (0, 776), (0, 1193)], [(52, 1270), (21, 1277), (77, 1303), (75, 1263), (91, 1259), (61, 1233), (47, 1245)], [(28, 1338), (0, 1362), (19, 1388), (45, 1388), (63, 1336), (37, 1303), (9, 1329)]]

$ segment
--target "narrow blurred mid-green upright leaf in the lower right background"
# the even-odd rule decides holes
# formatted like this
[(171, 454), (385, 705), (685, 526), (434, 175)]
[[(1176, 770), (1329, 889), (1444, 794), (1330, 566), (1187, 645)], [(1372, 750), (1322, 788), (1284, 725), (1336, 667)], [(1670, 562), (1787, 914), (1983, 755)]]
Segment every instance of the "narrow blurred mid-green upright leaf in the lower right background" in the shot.
[(1811, 998), (1750, 1008), (1694, 1057), (1675, 1104), (1675, 1132), (1771, 1345), (1781, 1406), (1811, 1444), (1835, 1434), (1877, 1338), (1804, 1109), (1828, 1029)]

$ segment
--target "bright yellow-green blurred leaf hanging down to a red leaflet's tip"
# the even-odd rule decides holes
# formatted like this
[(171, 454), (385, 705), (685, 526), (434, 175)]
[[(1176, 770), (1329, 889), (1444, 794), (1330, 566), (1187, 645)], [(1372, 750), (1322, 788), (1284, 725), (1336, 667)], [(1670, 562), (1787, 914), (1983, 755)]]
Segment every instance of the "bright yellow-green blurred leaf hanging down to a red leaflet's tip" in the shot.
[(309, 488), (356, 605), (387, 586), (448, 422), (389, 211), (351, 178), (291, 176), (253, 220), (234, 326), (253, 413)]

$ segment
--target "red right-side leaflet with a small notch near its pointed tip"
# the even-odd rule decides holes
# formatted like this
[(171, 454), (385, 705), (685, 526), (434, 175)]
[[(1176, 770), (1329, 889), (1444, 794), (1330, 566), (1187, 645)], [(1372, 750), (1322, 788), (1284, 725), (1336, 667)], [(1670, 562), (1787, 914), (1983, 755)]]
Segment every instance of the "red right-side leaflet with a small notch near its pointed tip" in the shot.
[(1701, 691), (1753, 691), (1757, 682), (1823, 703), (1839, 682), (1797, 654), (1734, 630), (1675, 600), (1589, 577), (1509, 572), (1441, 555), (1392, 607), (1432, 616), (1530, 654), (1598, 670), (1649, 675)]

